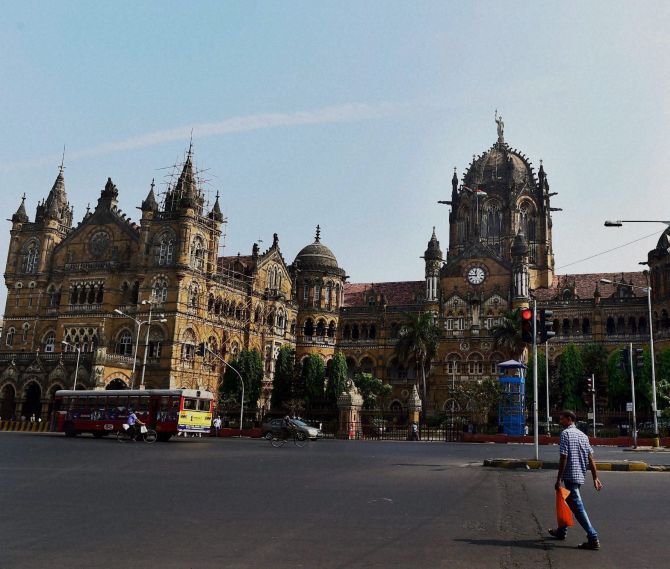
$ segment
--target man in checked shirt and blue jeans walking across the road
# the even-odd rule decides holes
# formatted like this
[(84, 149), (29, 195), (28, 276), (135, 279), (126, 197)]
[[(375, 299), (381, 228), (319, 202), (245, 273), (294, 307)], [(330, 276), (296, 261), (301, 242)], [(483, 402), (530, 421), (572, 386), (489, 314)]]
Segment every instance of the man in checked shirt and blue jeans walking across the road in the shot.
[[(600, 541), (598, 540), (598, 532), (591, 525), (589, 516), (584, 508), (582, 496), (579, 493), (579, 488), (586, 480), (586, 469), (591, 471), (593, 476), (593, 486), (599, 492), (602, 490), (603, 484), (598, 478), (598, 469), (596, 463), (593, 461), (593, 449), (589, 443), (589, 438), (575, 426), (577, 417), (572, 411), (563, 411), (560, 417), (560, 423), (563, 427), (561, 432), (561, 443), (559, 452), (561, 459), (558, 465), (558, 476), (556, 477), (555, 490), (558, 492), (561, 489), (561, 482), (563, 482), (570, 494), (566, 498), (566, 502), (572, 513), (577, 518), (577, 521), (586, 531), (588, 541), (578, 545), (579, 549), (600, 549)], [(568, 533), (567, 527), (558, 527), (550, 529), (549, 535), (554, 539), (564, 540)]]

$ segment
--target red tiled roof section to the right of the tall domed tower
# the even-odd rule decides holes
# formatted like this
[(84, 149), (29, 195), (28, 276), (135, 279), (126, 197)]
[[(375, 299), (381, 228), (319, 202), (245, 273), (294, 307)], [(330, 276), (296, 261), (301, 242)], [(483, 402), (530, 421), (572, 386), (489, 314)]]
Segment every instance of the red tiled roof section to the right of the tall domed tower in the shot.
[[(574, 275), (554, 275), (554, 281), (549, 288), (540, 288), (533, 291), (533, 296), (539, 301), (560, 300), (563, 291), (570, 290), (575, 298), (593, 298), (596, 284), (602, 298), (607, 298), (616, 293), (616, 285), (599, 282), (607, 279), (613, 282), (633, 284), (637, 287), (647, 286), (647, 280), (642, 272), (636, 273), (584, 273)], [(646, 296), (645, 291), (639, 288), (632, 289), (633, 296)]]

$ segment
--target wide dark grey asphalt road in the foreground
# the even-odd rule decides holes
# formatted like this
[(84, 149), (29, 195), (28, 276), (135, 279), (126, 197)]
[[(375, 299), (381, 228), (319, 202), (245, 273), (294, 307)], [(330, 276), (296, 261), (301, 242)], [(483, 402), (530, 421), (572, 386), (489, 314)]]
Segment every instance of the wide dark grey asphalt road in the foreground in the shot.
[(480, 466), (529, 452), (0, 433), (0, 568), (667, 566), (670, 473), (605, 472), (601, 493), (585, 487), (603, 549), (579, 551), (581, 528), (544, 539), (555, 471)]

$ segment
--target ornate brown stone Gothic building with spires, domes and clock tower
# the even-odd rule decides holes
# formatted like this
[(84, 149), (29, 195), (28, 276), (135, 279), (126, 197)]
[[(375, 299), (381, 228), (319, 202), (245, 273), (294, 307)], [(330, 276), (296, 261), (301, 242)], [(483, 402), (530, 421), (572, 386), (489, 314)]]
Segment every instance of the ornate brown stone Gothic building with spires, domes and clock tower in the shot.
[[(456, 382), (495, 376), (505, 355), (491, 330), (507, 309), (532, 299), (554, 311), (553, 364), (568, 343), (646, 344), (643, 272), (555, 274), (555, 193), (542, 163), (536, 172), (505, 142), (501, 120), (496, 142), (451, 182), (442, 202), (450, 207), (449, 246), (443, 255), (433, 228), (423, 280), (348, 283), (319, 227), (290, 265), (276, 234), (264, 252), (255, 244), (250, 255), (219, 256), (226, 220), (218, 195), (206, 210), (191, 150), (160, 203), (152, 183), (139, 224), (119, 210), (108, 179), (95, 209), (74, 226), (61, 169), (32, 221), (25, 199), (11, 218), (0, 417), (48, 414), (54, 391), (72, 388), (75, 374), (79, 388), (216, 390), (222, 360), (243, 348), (264, 357), (267, 405), (284, 344), (298, 360), (316, 353), (326, 365), (341, 350), (350, 373), (393, 386), (388, 405), (401, 411), (417, 381), (413, 363), (395, 353), (408, 312), (433, 313), (441, 329), (428, 411), (447, 408)], [(654, 335), (667, 346), (670, 229), (648, 268)], [(196, 354), (201, 342), (211, 349), (205, 357)]]

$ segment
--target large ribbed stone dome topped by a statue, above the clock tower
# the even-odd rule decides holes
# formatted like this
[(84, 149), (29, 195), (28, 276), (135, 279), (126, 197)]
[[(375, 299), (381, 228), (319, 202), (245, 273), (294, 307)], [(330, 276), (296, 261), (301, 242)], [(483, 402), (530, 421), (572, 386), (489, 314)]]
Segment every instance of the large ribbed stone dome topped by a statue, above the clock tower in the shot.
[(463, 177), (463, 184), (473, 189), (493, 186), (523, 188), (535, 185), (535, 174), (523, 154), (504, 142), (497, 142), (473, 159)]

